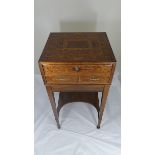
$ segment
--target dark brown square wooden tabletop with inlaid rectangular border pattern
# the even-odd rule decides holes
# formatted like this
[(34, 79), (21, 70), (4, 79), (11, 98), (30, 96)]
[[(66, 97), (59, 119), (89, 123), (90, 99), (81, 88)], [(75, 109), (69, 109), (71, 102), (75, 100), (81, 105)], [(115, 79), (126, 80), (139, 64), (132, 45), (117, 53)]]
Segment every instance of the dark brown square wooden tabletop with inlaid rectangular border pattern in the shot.
[(50, 33), (42, 62), (115, 62), (105, 32)]

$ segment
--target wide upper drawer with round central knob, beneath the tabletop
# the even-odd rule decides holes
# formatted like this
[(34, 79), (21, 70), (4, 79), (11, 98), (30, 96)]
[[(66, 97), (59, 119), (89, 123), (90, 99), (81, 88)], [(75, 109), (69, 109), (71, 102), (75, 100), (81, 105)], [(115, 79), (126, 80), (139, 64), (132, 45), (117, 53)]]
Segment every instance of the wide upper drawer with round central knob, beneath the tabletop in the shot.
[(112, 65), (54, 65), (43, 64), (43, 71), (45, 76), (68, 74), (68, 75), (87, 75), (90, 73), (107, 74), (111, 73)]

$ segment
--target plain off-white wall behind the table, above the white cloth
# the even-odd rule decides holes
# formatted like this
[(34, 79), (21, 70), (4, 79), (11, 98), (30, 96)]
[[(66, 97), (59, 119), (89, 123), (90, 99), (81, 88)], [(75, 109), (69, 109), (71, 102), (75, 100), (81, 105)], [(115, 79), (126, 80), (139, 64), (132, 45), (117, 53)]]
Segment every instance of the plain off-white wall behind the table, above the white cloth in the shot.
[(35, 74), (50, 32), (107, 32), (121, 74), (120, 7), (120, 0), (34, 0)]

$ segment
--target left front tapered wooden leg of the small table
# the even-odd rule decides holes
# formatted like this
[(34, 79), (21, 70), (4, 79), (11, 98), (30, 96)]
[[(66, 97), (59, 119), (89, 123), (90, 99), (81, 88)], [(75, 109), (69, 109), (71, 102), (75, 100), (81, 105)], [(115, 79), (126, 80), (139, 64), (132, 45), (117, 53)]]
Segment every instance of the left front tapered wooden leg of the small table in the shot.
[(46, 90), (47, 90), (47, 93), (48, 93), (49, 100), (51, 102), (52, 110), (53, 110), (53, 113), (54, 113), (54, 117), (55, 117), (58, 129), (60, 129), (59, 116), (58, 116), (58, 113), (57, 113), (56, 103), (55, 103), (55, 99), (54, 99), (54, 93), (53, 93), (50, 86), (46, 86)]

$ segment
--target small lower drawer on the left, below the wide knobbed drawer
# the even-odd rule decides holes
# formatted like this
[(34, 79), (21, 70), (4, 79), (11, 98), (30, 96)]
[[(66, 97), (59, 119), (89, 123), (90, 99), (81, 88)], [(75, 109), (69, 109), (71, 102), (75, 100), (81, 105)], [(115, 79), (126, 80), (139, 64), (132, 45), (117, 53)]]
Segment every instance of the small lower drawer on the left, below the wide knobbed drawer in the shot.
[(45, 77), (46, 84), (76, 84), (79, 82), (78, 76), (53, 75)]

